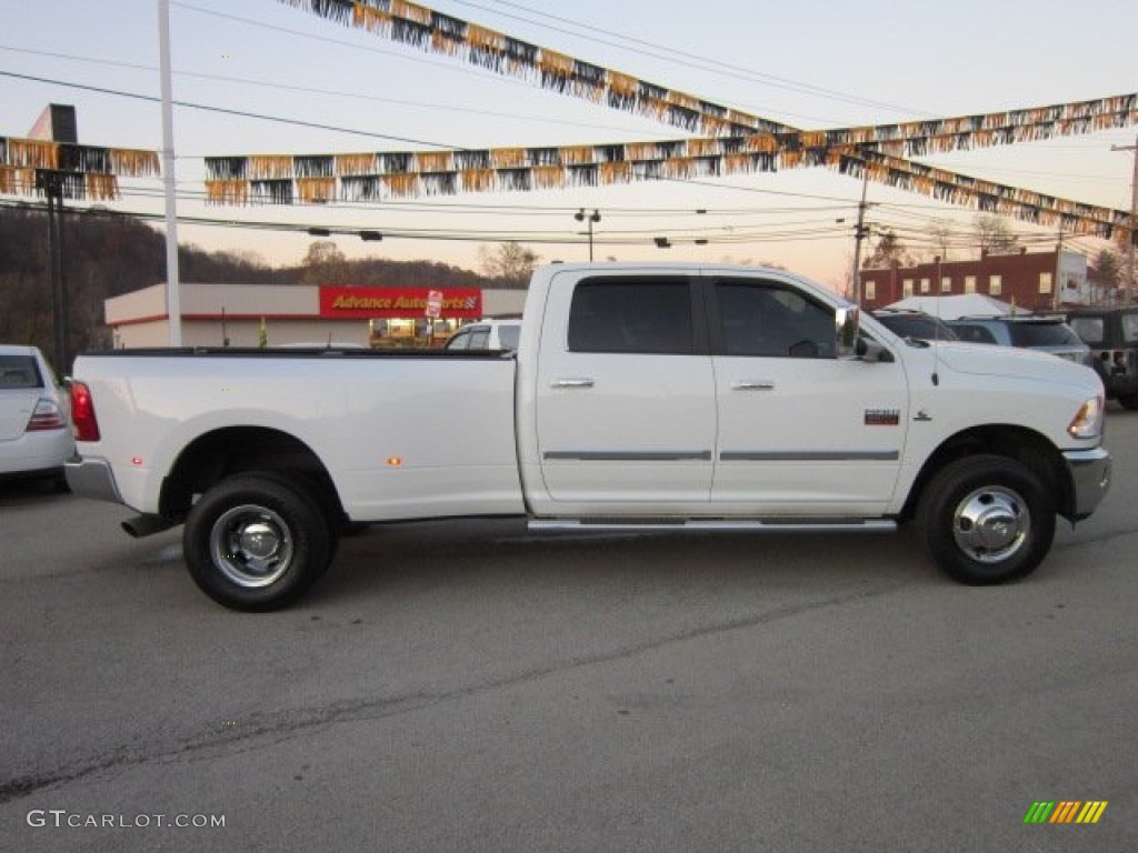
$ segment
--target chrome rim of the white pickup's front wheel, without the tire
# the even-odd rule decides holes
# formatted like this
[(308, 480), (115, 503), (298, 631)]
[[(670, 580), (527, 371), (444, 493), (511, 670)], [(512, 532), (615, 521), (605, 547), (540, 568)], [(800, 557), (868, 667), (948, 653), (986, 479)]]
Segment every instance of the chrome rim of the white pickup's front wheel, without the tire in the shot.
[(1031, 513), (1023, 497), (1006, 486), (968, 492), (953, 513), (957, 547), (980, 563), (1001, 563), (1028, 541)]

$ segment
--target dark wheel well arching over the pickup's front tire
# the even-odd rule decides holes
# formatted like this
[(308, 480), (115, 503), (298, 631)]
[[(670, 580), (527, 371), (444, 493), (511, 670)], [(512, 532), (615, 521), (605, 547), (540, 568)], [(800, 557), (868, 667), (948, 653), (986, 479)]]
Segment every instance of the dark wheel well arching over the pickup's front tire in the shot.
[(975, 426), (958, 432), (938, 447), (921, 467), (921, 473), (909, 489), (901, 510), (901, 520), (916, 514), (917, 503), (925, 486), (945, 465), (965, 456), (996, 454), (1015, 459), (1030, 469), (1042, 485), (1056, 496), (1059, 515), (1073, 512), (1074, 494), (1071, 478), (1066, 475), (1063, 456), (1044, 436), (1023, 426), (996, 424)]

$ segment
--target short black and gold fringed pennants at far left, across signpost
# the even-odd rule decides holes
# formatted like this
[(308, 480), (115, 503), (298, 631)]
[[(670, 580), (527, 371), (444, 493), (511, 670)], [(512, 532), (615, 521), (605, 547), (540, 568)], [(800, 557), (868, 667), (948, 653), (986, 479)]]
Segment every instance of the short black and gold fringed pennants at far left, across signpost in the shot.
[(67, 199), (118, 198), (118, 177), (158, 174), (158, 155), (134, 148), (99, 148), (39, 139), (0, 136), (0, 194), (46, 196), (55, 188)]

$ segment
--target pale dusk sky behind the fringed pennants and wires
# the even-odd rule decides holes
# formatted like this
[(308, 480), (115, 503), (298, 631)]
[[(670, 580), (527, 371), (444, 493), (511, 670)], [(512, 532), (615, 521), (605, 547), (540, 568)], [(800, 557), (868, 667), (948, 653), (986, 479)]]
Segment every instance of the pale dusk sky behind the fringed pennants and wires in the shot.
[[(424, 5), (802, 129), (1138, 91), (1132, 1)], [(81, 143), (162, 148), (158, 103), (127, 97), (160, 92), (157, 0), (5, 0), (2, 6), (0, 135), (26, 135), (47, 103), (72, 103)], [(587, 238), (574, 218), (585, 208), (601, 215), (594, 231), (599, 259), (776, 263), (831, 287), (849, 270), (861, 184), (824, 168), (327, 207), (206, 205), (207, 156), (595, 144), (688, 134), (277, 0), (172, 0), (170, 14), (174, 98), (196, 105), (174, 110), (182, 216), (423, 233), (434, 239), (335, 240), (349, 257), (428, 258), (477, 268), (479, 249), (505, 240), (522, 242), (546, 260), (586, 259)], [(922, 162), (1129, 209), (1133, 155), (1111, 147), (1132, 146), (1136, 134), (1130, 126)], [(123, 199), (110, 205), (115, 209), (162, 212), (160, 180), (123, 181)], [(868, 201), (868, 220), (879, 229), (918, 234), (937, 221), (953, 221), (962, 233), (960, 257), (967, 256), (963, 235), (974, 212), (874, 183)], [(1011, 224), (1030, 246), (1054, 248), (1056, 234)], [(273, 264), (298, 262), (314, 239), (190, 224), (180, 225), (179, 237), (205, 249), (253, 251)], [(655, 237), (667, 237), (671, 248), (657, 248)], [(696, 239), (708, 245), (695, 245)], [(1094, 254), (1105, 243), (1080, 238), (1069, 245)]]

